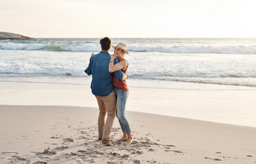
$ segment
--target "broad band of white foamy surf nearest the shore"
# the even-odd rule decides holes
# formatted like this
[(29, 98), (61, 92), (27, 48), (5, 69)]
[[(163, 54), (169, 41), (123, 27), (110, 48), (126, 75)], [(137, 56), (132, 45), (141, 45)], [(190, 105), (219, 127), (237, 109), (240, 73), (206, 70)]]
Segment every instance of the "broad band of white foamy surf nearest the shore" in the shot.
[[(87, 61), (86, 61), (87, 63)], [(53, 61), (38, 63), (31, 61), (0, 61), (0, 77), (57, 77), (78, 78), (88, 75), (84, 72), (85, 64), (69, 61)], [(190, 83), (209, 83), (217, 85), (240, 85), (256, 87), (256, 72), (248, 70), (220, 70), (216, 72), (208, 69), (191, 70), (136, 70), (131, 68), (129, 79), (146, 79), (160, 81), (180, 81)]]

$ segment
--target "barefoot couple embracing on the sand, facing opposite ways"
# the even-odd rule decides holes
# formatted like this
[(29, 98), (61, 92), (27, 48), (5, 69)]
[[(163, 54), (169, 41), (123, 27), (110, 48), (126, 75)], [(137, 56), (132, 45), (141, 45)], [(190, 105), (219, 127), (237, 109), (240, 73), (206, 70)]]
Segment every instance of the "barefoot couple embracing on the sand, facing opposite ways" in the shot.
[(123, 131), (123, 138), (118, 141), (125, 141), (125, 144), (129, 145), (133, 139), (129, 123), (125, 118), (125, 105), (129, 94), (126, 72), (129, 64), (124, 57), (128, 52), (126, 45), (120, 42), (112, 46), (114, 54), (110, 55), (110, 38), (102, 38), (100, 43), (101, 52), (95, 55), (92, 53), (90, 63), (84, 70), (88, 75), (92, 74), (92, 94), (97, 98), (99, 105), (99, 140), (107, 146), (112, 145), (110, 131), (117, 115)]

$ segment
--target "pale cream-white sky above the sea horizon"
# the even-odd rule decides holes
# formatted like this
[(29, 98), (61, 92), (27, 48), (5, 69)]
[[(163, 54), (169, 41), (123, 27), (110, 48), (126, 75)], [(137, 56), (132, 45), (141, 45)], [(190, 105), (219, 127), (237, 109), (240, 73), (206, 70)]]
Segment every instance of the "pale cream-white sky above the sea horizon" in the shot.
[(0, 0), (0, 31), (33, 38), (256, 38), (255, 0)]

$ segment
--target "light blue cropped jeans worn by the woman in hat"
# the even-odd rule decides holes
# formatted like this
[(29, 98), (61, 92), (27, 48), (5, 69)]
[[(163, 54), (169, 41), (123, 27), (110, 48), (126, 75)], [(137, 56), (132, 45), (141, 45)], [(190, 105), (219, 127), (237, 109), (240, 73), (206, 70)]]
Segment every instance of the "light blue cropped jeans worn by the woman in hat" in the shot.
[(127, 119), (125, 118), (125, 105), (126, 105), (127, 98), (129, 96), (129, 91), (119, 90), (117, 87), (115, 87), (115, 90), (116, 90), (116, 96), (117, 96), (116, 115), (120, 123), (120, 126), (122, 128), (122, 131), (129, 134), (131, 133), (131, 129)]

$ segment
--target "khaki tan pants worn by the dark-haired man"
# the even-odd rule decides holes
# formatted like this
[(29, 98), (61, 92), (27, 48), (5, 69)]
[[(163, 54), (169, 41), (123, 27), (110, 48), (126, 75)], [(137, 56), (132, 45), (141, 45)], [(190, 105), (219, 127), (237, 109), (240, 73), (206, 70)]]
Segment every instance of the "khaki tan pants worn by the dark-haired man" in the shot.
[[(107, 96), (95, 96), (99, 105), (99, 139), (103, 143), (110, 141), (110, 131), (116, 118), (116, 93), (112, 91)], [(105, 122), (105, 115), (107, 113), (107, 120)]]

